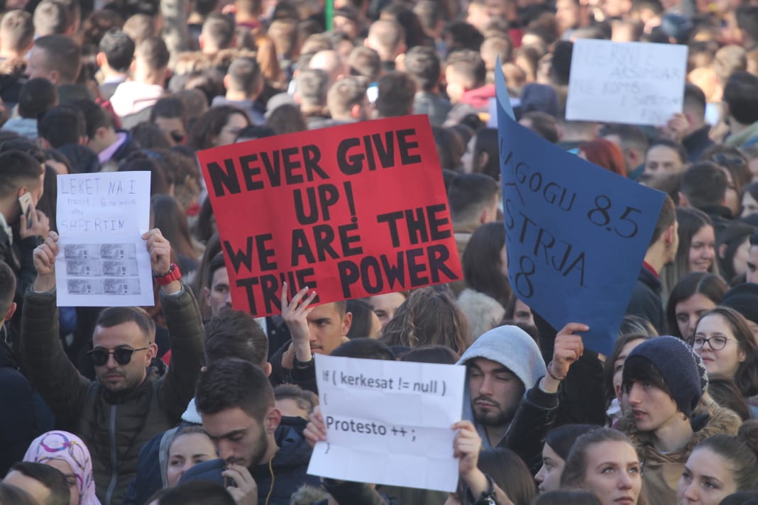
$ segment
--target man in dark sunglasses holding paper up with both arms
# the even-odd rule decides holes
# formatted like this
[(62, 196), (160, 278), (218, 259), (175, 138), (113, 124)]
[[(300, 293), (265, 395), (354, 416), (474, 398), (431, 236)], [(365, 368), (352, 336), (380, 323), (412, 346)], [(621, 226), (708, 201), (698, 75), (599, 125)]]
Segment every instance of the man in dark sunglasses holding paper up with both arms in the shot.
[(136, 473), (139, 449), (175, 426), (203, 365), (202, 318), (193, 294), (171, 263), (171, 245), (152, 229), (143, 235), (161, 309), (171, 336), (172, 361), (158, 377), (150, 367), (158, 351), (155, 323), (139, 307), (109, 307), (99, 314), (89, 357), (91, 381), (68, 361), (58, 336), (55, 256), (58, 235), (34, 250), (36, 280), (24, 298), (20, 360), (23, 372), (55, 413), (61, 428), (79, 435), (92, 454), (97, 495), (103, 505), (121, 503)]

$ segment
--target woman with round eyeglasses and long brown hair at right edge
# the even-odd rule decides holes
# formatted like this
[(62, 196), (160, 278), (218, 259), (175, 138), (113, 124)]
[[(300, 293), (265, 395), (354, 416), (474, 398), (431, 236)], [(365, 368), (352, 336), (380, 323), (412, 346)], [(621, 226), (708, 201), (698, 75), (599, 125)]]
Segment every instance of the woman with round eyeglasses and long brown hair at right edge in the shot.
[[(745, 397), (758, 394), (758, 344), (741, 313), (729, 307), (709, 310), (691, 341), (709, 375), (733, 377)], [(753, 416), (758, 416), (754, 407)]]

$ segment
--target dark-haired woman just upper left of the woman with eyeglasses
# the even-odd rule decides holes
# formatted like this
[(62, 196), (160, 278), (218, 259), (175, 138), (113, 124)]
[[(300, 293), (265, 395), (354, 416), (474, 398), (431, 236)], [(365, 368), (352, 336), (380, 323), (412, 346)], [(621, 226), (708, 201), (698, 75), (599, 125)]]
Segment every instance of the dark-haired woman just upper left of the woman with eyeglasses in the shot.
[(666, 304), (669, 335), (687, 340), (700, 316), (721, 304), (727, 285), (713, 273), (691, 272), (679, 279)]

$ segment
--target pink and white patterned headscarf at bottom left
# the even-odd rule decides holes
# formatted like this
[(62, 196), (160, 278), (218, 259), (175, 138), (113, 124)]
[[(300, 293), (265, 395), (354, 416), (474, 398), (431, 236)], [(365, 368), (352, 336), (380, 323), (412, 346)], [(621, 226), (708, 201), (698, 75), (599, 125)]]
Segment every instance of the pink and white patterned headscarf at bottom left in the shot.
[(80, 505), (100, 505), (92, 478), (92, 458), (89, 457), (89, 449), (77, 435), (59, 431), (42, 433), (32, 441), (23, 460), (32, 463), (65, 461), (77, 477)]

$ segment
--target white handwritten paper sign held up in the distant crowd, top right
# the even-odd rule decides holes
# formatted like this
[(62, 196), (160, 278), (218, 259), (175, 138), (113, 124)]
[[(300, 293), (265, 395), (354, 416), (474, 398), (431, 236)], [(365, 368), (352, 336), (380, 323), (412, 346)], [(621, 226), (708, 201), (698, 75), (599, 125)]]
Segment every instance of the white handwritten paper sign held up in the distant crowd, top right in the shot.
[(579, 39), (566, 119), (666, 124), (681, 112), (686, 70), (686, 45)]

